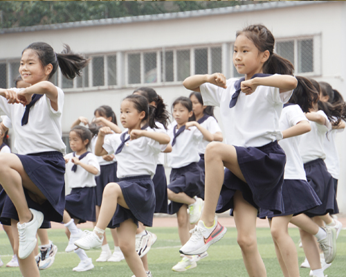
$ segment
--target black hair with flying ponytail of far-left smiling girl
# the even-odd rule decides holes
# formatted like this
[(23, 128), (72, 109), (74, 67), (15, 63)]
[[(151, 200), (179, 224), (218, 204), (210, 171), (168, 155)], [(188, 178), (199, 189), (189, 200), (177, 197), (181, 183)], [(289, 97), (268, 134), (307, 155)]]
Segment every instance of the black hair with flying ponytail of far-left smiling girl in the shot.
[[(24, 49), (32, 49), (39, 57), (42, 66), (52, 64), (53, 70), (48, 75), (51, 79), (57, 68), (60, 67), (62, 75), (68, 79), (75, 78), (76, 75), (80, 76), (81, 70), (89, 63), (90, 59), (86, 59), (84, 55), (76, 54), (71, 51), (69, 45), (64, 44), (62, 53), (55, 53), (53, 48), (45, 42), (34, 42)], [(24, 51), (21, 53), (23, 55)]]

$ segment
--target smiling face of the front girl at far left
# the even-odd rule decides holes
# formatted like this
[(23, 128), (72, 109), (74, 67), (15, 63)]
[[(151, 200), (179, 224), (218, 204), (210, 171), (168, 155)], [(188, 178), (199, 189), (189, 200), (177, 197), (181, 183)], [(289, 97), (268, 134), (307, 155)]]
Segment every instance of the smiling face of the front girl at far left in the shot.
[(52, 69), (53, 66), (51, 64), (42, 66), (39, 56), (32, 49), (26, 49), (23, 55), (21, 55), (19, 73), (23, 81), (28, 84), (36, 84), (37, 82), (48, 80)]

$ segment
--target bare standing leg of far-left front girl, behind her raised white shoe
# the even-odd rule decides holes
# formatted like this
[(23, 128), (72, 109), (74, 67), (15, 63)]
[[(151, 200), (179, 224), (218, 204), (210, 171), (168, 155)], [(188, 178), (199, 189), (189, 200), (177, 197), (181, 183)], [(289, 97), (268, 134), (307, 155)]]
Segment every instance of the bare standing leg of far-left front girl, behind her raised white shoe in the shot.
[[(17, 220), (11, 220), (12, 235), (15, 242), (15, 254), (18, 257), (19, 235), (17, 229)], [(37, 277), (39, 276), (39, 269), (37, 267), (34, 253), (31, 252), (28, 258), (21, 260), (18, 257), (19, 269), (24, 277)]]

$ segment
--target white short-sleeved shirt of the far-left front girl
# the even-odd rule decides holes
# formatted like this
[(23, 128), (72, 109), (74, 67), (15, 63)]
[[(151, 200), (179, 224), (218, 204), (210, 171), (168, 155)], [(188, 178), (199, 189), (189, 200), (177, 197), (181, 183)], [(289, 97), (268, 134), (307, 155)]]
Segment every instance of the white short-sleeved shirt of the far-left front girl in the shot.
[[(57, 88), (57, 111), (51, 107), (51, 100), (46, 95), (39, 98), (30, 108), (28, 123), (21, 126), (21, 118), (25, 107), (21, 104), (8, 104), (6, 98), (0, 96), (0, 109), (12, 122), (15, 133), (15, 148), (18, 154), (58, 151), (65, 154), (66, 145), (62, 141), (62, 108), (64, 92)], [(17, 93), (21, 89), (11, 89)]]

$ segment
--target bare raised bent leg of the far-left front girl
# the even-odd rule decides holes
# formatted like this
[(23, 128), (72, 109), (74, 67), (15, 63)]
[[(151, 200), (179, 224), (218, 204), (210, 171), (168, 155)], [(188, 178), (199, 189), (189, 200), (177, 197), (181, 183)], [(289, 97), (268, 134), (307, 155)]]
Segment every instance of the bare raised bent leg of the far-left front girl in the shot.
[(46, 197), (30, 180), (15, 154), (0, 153), (0, 164), (0, 184), (17, 209), (19, 222), (21, 224), (29, 222), (33, 215), (28, 208), (23, 187), (34, 193), (30, 197), (38, 203), (46, 200)]

